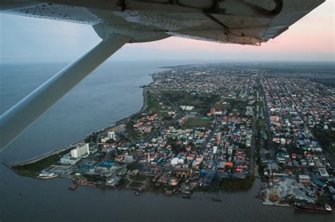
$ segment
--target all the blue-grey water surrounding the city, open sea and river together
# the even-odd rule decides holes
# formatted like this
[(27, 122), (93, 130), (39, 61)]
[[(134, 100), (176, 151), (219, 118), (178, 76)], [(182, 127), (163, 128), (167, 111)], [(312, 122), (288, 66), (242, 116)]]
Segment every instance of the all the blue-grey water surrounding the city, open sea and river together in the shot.
[[(0, 161), (14, 164), (81, 140), (93, 131), (135, 113), (143, 104), (140, 85), (149, 74), (190, 61), (107, 61), (42, 118), (23, 132)], [(0, 65), (0, 113), (16, 104), (66, 64)], [(295, 211), (292, 207), (263, 206), (254, 195), (256, 180), (247, 192), (199, 192), (191, 199), (165, 197), (131, 190), (78, 187), (69, 191), (70, 180), (38, 180), (20, 177), (0, 165), (0, 221), (334, 221), (334, 214)]]

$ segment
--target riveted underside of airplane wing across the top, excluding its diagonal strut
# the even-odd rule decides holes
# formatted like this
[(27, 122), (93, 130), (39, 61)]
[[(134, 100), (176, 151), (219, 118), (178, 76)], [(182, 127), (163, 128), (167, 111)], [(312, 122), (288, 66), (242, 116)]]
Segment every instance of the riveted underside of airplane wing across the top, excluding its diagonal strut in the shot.
[[(132, 42), (177, 36), (259, 45), (277, 37), (324, 0), (49, 0), (4, 1), (0, 11), (93, 25), (106, 32), (142, 32)], [(2, 1), (0, 1), (2, 2)], [(148, 32), (155, 34), (148, 35)]]

